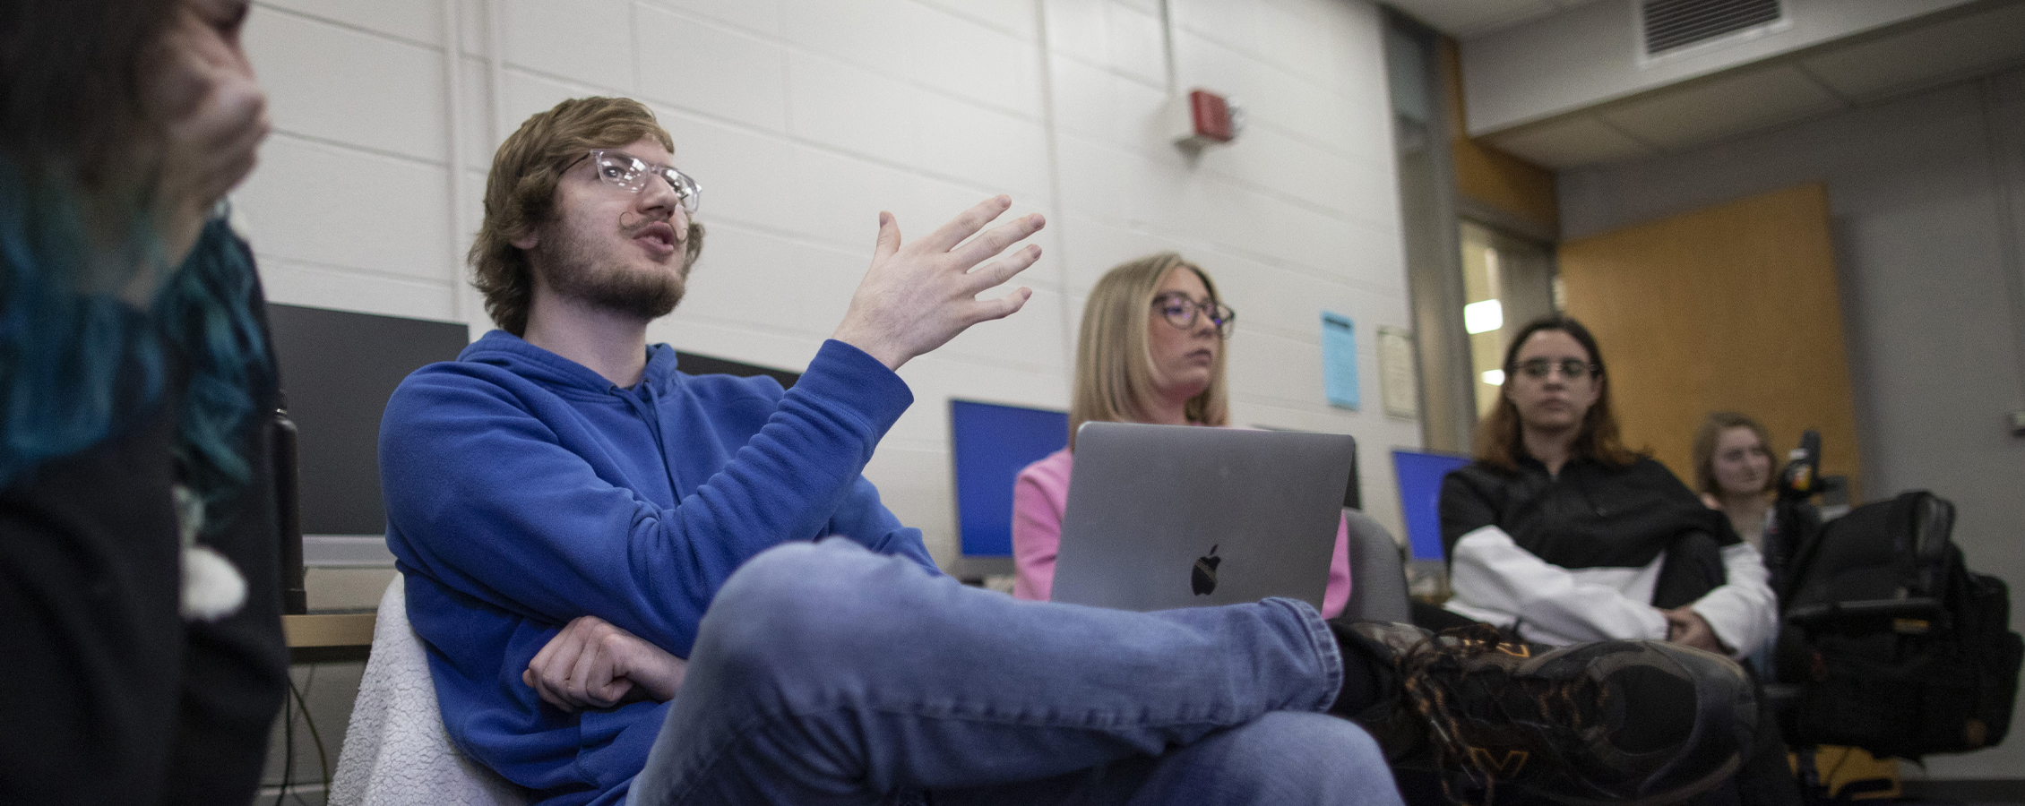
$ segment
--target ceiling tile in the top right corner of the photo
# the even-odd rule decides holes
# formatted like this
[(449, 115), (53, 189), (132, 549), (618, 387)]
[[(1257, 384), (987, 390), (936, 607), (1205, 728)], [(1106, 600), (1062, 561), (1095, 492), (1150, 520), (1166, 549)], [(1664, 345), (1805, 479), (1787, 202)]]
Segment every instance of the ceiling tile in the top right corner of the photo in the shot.
[(1867, 101), (2025, 61), (2025, 4), (1839, 49), (1800, 65), (1843, 97)]

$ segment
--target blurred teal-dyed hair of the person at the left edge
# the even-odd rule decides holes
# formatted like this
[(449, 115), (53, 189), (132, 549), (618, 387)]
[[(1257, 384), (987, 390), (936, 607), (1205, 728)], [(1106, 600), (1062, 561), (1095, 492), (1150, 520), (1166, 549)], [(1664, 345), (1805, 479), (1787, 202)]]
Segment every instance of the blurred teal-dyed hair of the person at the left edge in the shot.
[(0, 486), (140, 425), (176, 397), (176, 367), (172, 450), (184, 482), (225, 504), (253, 478), (245, 439), (273, 387), (251, 255), (213, 219), (142, 308), (122, 294), (164, 273), (156, 239), (136, 225), (140, 247), (93, 249), (85, 233), (75, 192), (0, 160)]

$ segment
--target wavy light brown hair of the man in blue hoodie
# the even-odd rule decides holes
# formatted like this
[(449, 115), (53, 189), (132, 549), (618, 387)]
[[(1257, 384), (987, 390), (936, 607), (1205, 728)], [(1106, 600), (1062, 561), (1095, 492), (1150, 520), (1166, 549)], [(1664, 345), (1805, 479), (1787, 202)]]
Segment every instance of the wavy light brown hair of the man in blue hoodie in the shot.
[[(486, 314), (514, 336), (526, 332), (535, 302), (535, 267), (512, 245), (555, 219), (555, 184), (563, 170), (593, 148), (622, 148), (654, 138), (674, 152), (674, 138), (654, 111), (630, 97), (573, 97), (535, 113), (500, 144), (486, 176), (486, 221), (472, 241), (472, 286), (486, 298)], [(703, 225), (688, 221), (682, 267), (703, 255)]]

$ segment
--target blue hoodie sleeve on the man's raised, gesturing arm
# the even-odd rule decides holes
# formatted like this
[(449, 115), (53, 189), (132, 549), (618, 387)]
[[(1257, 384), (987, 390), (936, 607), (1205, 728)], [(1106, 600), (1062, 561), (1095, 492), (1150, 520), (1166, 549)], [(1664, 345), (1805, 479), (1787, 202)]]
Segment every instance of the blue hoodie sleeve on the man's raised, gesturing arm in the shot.
[(826, 342), (759, 433), (670, 508), (605, 482), (567, 448), (599, 435), (541, 417), (531, 385), (500, 373), (423, 369), (381, 423), (389, 547), (464, 595), (545, 624), (595, 614), (686, 656), (725, 577), (767, 547), (863, 527), (846, 535), (927, 565), (861, 476), (913, 395), (848, 344)]

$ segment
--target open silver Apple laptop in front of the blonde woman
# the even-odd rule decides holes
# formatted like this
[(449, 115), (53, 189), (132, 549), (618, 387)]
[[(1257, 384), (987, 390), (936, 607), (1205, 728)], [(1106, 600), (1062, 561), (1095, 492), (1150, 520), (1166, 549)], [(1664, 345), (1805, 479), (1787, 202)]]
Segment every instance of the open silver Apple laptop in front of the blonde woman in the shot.
[(1345, 433), (1083, 423), (1051, 597), (1320, 608), (1355, 454)]

